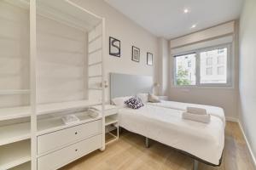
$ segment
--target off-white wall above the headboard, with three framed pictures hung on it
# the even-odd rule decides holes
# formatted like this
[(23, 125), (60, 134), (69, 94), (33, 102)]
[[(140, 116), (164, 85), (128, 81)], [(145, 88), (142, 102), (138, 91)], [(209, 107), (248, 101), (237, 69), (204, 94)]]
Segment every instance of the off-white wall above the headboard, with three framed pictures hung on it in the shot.
[[(91, 12), (106, 19), (105, 78), (108, 80), (109, 72), (154, 76), (158, 74), (154, 69), (158, 58), (158, 39), (133, 21), (120, 14), (103, 0), (73, 0), (74, 3), (89, 9)], [(108, 54), (108, 37), (115, 37), (121, 41), (121, 57)], [(140, 62), (131, 60), (131, 46), (140, 48)], [(154, 54), (154, 66), (147, 65), (147, 52)], [(107, 91), (107, 95), (108, 95)]]

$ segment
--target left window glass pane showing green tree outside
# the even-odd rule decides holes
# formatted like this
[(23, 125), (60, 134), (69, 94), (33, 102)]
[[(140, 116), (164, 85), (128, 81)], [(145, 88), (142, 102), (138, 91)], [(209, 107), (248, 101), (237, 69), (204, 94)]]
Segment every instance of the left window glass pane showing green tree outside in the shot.
[(179, 55), (175, 59), (176, 85), (195, 85), (195, 54)]

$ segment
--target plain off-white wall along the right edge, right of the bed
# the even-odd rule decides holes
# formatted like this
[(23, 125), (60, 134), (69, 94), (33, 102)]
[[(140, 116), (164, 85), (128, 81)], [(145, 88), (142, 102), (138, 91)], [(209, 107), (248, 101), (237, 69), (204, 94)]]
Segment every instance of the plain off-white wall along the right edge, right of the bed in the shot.
[(239, 119), (256, 156), (256, 1), (246, 0), (240, 20)]

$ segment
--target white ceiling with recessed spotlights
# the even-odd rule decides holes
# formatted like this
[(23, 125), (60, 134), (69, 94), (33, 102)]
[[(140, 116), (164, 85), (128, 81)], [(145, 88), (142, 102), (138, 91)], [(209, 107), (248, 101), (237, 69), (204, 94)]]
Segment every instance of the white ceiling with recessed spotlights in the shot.
[[(157, 37), (167, 39), (235, 20), (243, 4), (243, 0), (105, 1)], [(184, 9), (189, 13), (184, 14)]]

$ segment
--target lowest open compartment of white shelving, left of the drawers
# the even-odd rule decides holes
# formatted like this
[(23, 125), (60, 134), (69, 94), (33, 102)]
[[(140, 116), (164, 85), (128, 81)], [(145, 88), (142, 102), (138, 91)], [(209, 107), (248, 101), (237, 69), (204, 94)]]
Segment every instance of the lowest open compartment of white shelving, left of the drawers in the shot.
[(23, 140), (1, 146), (0, 169), (9, 169), (31, 161), (30, 145), (30, 140)]

